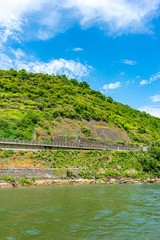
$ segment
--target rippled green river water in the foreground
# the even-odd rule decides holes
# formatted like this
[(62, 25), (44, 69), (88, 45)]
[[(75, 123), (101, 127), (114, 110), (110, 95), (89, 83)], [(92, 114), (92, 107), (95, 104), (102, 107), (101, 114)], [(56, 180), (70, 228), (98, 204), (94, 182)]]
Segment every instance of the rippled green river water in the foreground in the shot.
[(2, 239), (160, 239), (160, 184), (1, 189)]

